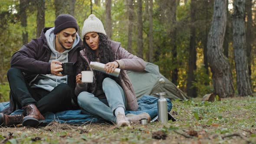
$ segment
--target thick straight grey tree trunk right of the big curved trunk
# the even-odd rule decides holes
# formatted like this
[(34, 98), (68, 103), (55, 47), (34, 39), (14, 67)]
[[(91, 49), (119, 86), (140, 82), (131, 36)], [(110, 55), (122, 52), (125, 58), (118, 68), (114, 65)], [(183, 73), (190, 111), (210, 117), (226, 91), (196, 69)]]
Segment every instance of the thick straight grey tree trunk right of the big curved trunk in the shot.
[(236, 83), (240, 96), (252, 95), (249, 82), (245, 40), (245, 0), (233, 1), (233, 46), (236, 64)]

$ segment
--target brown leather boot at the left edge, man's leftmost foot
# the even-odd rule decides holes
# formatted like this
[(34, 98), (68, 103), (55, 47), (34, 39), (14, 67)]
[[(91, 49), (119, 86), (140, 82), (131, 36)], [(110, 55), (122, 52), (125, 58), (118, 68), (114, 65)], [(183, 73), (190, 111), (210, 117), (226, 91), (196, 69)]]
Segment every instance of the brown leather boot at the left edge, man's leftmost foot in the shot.
[(4, 113), (0, 113), (0, 126), (10, 126), (10, 125), (16, 125), (21, 124), (23, 119), (22, 114), (17, 115), (6, 115)]

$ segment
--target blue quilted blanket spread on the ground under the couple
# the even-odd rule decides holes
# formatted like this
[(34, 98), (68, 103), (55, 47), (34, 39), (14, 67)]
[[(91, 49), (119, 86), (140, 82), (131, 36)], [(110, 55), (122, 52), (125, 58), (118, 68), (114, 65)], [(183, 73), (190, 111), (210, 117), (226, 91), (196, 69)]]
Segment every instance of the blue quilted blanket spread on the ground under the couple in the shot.
[[(137, 111), (125, 111), (125, 114), (139, 114), (141, 112), (147, 112), (151, 119), (158, 115), (157, 107), (158, 98), (150, 95), (144, 95), (141, 99), (138, 100), (139, 108)], [(0, 111), (9, 106), (9, 102), (0, 103)], [(171, 111), (172, 103), (171, 100), (167, 98), (167, 109)], [(23, 113), (23, 110), (16, 110), (11, 115)], [(68, 110), (61, 111), (57, 113), (47, 112), (43, 115), (46, 118), (47, 123), (50, 123), (53, 120), (59, 121), (60, 123), (67, 124), (84, 124), (86, 122), (102, 122), (102, 118), (96, 118), (95, 116), (90, 115), (89, 112), (84, 110)]]

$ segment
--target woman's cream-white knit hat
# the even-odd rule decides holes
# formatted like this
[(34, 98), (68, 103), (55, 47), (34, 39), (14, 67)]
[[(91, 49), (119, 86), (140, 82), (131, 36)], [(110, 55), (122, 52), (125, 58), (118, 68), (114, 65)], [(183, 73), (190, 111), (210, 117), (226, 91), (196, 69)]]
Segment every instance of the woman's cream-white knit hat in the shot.
[(103, 33), (105, 35), (105, 29), (102, 24), (102, 21), (99, 20), (94, 14), (91, 14), (88, 19), (85, 20), (84, 26), (82, 29), (82, 39), (87, 33), (96, 32), (96, 33)]

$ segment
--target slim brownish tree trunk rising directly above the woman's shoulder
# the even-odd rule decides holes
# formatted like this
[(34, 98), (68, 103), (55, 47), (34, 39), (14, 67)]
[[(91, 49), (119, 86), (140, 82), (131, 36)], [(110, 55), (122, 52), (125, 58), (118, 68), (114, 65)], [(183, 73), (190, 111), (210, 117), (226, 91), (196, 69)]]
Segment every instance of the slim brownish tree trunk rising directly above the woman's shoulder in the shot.
[(128, 52), (132, 53), (133, 0), (128, 0)]

